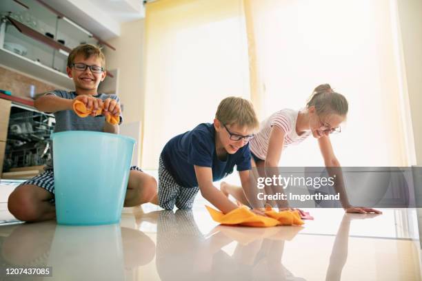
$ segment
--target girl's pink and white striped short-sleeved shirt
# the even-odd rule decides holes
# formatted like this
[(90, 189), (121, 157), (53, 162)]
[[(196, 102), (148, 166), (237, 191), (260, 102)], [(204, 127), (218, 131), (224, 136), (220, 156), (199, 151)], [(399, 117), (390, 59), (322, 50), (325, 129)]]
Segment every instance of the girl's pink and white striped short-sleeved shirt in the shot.
[(265, 160), (272, 126), (277, 126), (283, 130), (285, 134), (283, 148), (289, 145), (297, 145), (308, 138), (311, 132), (305, 132), (301, 136), (298, 136), (296, 132), (297, 114), (299, 114), (297, 110), (284, 109), (275, 112), (262, 121), (258, 134), (249, 143), (250, 151), (258, 158)]

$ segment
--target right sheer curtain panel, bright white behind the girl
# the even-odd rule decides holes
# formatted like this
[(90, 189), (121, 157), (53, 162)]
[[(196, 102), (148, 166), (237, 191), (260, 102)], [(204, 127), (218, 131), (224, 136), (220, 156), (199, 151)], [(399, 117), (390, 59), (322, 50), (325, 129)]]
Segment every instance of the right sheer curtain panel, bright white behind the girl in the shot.
[[(341, 164), (408, 165), (391, 2), (245, 0), (261, 118), (299, 110), (316, 85), (330, 83), (350, 105), (331, 136)], [(286, 149), (280, 165), (323, 165), (316, 140)]]

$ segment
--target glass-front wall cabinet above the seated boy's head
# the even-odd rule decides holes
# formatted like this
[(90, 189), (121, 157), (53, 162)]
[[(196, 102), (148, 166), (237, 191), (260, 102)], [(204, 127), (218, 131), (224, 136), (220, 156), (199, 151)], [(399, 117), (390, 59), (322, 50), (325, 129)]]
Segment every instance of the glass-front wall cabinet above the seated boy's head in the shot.
[(1, 0), (0, 17), (0, 63), (68, 89), (72, 48), (91, 43), (115, 50), (41, 0)]

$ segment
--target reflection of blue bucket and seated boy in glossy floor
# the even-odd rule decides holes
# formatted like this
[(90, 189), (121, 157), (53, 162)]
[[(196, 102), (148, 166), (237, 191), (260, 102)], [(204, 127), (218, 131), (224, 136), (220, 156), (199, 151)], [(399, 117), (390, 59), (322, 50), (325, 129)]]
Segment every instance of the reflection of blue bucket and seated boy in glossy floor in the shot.
[(76, 227), (48, 221), (10, 228), (1, 247), (3, 266), (52, 267), (48, 280), (125, 280), (155, 256), (151, 238), (119, 225)]

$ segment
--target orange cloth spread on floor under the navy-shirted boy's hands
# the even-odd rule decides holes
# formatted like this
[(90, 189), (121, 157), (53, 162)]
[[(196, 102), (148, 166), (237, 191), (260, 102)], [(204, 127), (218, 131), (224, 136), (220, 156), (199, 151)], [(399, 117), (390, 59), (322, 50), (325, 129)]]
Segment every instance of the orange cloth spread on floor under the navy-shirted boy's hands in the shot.
[(275, 227), (277, 225), (303, 225), (303, 220), (297, 211), (272, 211), (265, 209), (265, 216), (259, 216), (247, 207), (239, 207), (223, 214), (221, 211), (205, 206), (212, 219), (222, 225), (244, 225), (247, 227)]

